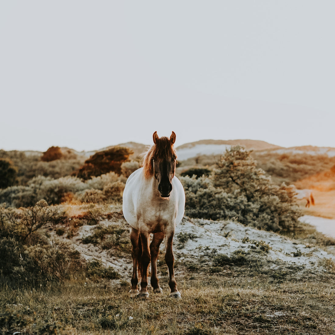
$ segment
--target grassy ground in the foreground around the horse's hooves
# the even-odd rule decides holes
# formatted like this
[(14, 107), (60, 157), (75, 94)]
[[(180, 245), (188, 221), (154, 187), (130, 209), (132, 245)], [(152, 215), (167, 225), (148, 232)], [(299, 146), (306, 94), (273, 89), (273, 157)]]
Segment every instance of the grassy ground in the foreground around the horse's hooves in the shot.
[[(264, 265), (264, 264), (263, 264)], [(334, 334), (335, 279), (298, 269), (225, 266), (177, 274), (182, 299), (131, 297), (123, 278), (0, 292), (2, 334)], [(177, 270), (182, 270), (177, 265)], [(179, 272), (179, 271), (178, 271)], [(299, 278), (297, 278), (299, 277)]]

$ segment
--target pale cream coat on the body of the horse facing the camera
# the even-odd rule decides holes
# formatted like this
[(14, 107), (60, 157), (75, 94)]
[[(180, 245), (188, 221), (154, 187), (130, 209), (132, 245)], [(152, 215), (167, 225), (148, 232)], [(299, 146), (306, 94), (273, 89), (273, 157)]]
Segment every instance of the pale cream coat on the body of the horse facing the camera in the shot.
[(144, 177), (143, 167), (133, 172), (123, 191), (123, 215), (137, 230), (148, 233), (174, 231), (185, 212), (185, 192), (175, 176), (169, 198), (161, 198), (158, 182), (152, 176)]

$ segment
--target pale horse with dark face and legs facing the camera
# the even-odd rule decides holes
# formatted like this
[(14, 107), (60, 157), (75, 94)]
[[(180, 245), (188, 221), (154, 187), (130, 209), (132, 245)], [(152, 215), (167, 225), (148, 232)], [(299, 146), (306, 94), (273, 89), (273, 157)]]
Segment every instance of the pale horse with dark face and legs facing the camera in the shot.
[[(170, 138), (153, 134), (153, 145), (144, 154), (142, 167), (133, 172), (123, 191), (123, 215), (130, 225), (133, 274), (130, 293), (147, 298), (147, 272), (151, 261), (150, 284), (153, 292), (162, 293), (157, 277), (159, 246), (164, 240), (165, 262), (169, 270), (170, 297), (180, 298), (174, 275), (172, 242), (175, 227), (185, 212), (185, 191), (175, 176), (177, 154), (176, 134)], [(150, 234), (153, 234), (150, 243)], [(141, 288), (138, 291), (138, 276)]]

